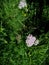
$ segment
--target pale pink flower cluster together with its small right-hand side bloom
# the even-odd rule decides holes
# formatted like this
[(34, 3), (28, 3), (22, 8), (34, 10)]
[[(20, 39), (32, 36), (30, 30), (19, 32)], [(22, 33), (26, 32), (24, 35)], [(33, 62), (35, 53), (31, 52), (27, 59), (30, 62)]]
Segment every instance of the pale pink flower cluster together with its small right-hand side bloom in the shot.
[(29, 34), (27, 36), (27, 39), (26, 39), (26, 44), (27, 44), (28, 47), (31, 47), (32, 45), (39, 44), (39, 40), (36, 40), (36, 37), (35, 36)]

